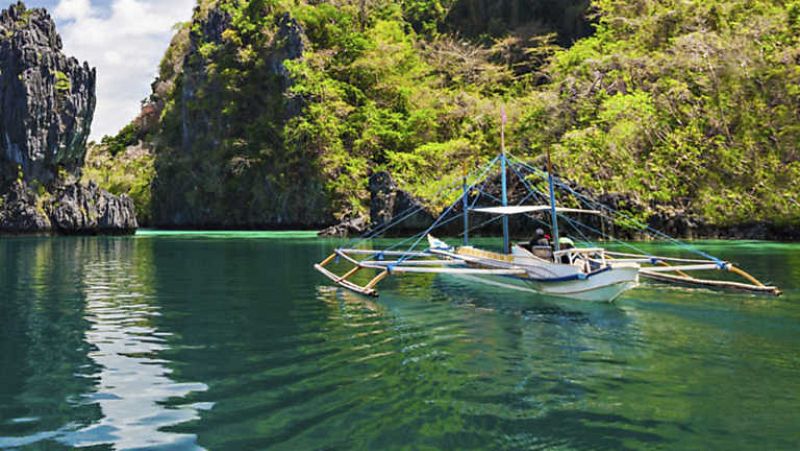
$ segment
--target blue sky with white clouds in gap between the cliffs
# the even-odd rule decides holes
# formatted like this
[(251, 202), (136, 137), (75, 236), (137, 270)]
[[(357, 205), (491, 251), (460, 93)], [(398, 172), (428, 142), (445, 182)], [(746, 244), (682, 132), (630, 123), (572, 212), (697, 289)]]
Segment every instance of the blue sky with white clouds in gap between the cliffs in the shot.
[[(5, 9), (16, 0), (0, 0)], [(64, 53), (97, 68), (91, 139), (114, 135), (139, 113), (174, 34), (195, 0), (24, 0), (50, 11)]]

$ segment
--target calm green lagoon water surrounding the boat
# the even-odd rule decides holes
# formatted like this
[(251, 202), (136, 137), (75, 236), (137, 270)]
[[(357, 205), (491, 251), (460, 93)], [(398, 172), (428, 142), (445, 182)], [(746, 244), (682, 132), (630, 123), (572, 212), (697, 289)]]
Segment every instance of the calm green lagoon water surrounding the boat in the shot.
[(700, 243), (781, 298), (595, 305), (427, 275), (368, 299), (313, 271), (334, 244), (0, 239), (0, 448), (800, 443), (800, 245)]

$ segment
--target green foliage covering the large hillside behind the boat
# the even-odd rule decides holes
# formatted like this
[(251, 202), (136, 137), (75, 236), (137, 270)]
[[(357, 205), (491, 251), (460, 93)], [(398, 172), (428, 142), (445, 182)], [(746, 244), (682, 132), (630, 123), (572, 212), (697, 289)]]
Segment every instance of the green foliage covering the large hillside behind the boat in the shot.
[[(545, 4), (564, 20), (508, 20)], [(286, 193), (293, 205), (321, 196), (307, 207), (332, 219), (360, 215), (374, 171), (429, 199), (496, 153), (504, 104), (514, 153), (551, 148), (562, 176), (625, 193), (645, 214), (670, 205), (718, 225), (800, 222), (800, 1), (585, 6), (201, 2), (162, 64), (157, 177), (182, 179), (179, 190), (221, 214), (232, 199), (274, 209), (266, 197)], [(215, 8), (230, 18), (220, 39)], [(498, 8), (468, 28), (464, 11)], [(589, 37), (574, 25), (584, 13)], [(276, 72), (285, 17), (302, 27), (303, 53)], [(204, 124), (188, 140), (187, 117)]]

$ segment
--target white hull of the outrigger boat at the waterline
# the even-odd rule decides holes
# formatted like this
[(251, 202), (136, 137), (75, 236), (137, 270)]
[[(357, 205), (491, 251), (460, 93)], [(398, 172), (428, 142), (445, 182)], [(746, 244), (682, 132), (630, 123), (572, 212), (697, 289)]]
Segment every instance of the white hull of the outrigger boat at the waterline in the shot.
[(513, 276), (462, 275), (475, 282), (509, 290), (591, 302), (613, 302), (639, 284), (638, 266), (615, 267), (586, 279), (544, 282)]

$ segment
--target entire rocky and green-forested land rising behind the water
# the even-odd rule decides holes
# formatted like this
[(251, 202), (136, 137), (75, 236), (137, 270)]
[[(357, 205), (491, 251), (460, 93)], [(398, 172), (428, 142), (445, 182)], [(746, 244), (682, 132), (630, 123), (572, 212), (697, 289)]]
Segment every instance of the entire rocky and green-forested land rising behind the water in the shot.
[(797, 2), (200, 0), (139, 116), (99, 143), (89, 66), (43, 10), (2, 17), (4, 231), (130, 231), (131, 205), (174, 229), (435, 216), (432, 194), (497, 152), (504, 106), (517, 156), (550, 149), (643, 222), (798, 237)]

